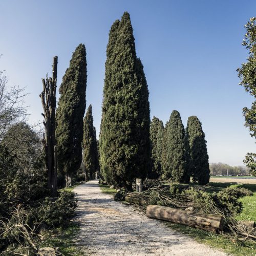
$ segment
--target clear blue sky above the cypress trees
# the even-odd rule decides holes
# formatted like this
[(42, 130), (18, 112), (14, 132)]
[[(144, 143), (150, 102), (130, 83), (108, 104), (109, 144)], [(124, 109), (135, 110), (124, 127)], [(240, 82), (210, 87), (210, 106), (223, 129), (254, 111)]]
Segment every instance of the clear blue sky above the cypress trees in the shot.
[(210, 162), (242, 164), (255, 152), (242, 108), (252, 97), (238, 86), (236, 69), (246, 61), (241, 46), (256, 1), (12, 1), (0, 2), (0, 70), (9, 86), (26, 97), (29, 122), (42, 120), (41, 78), (58, 56), (58, 86), (72, 52), (86, 45), (87, 107), (92, 104), (97, 134), (101, 119), (105, 50), (115, 19), (131, 14), (137, 56), (150, 91), (151, 118), (165, 123), (175, 109), (186, 126), (196, 115), (206, 134)]

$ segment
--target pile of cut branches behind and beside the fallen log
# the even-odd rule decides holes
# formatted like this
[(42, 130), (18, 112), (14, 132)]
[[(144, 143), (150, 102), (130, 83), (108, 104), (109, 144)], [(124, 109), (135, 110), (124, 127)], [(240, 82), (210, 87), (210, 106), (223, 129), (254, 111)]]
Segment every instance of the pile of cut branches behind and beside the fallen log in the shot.
[[(125, 196), (130, 202), (142, 202), (145, 210), (147, 205), (161, 205), (176, 209), (193, 209), (201, 214), (218, 214), (224, 217), (225, 236), (245, 241), (256, 239), (256, 228), (250, 230), (246, 225), (238, 222), (234, 216), (239, 214), (242, 203), (238, 198), (251, 196), (252, 191), (243, 187), (227, 187), (219, 193), (207, 193), (202, 187), (192, 187), (186, 184), (174, 184), (157, 180), (152, 182), (142, 193), (128, 193)], [(133, 198), (136, 198), (134, 200)], [(139, 199), (139, 200), (138, 200)]]

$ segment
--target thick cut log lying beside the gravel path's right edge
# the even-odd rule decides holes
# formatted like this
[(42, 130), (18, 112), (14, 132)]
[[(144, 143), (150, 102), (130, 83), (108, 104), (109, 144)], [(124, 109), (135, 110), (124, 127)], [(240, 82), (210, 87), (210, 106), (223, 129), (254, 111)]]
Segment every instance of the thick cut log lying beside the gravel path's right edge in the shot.
[(148, 205), (146, 207), (146, 216), (211, 232), (216, 232), (218, 229), (223, 230), (223, 216), (221, 215), (199, 214), (190, 210), (185, 211), (159, 205)]

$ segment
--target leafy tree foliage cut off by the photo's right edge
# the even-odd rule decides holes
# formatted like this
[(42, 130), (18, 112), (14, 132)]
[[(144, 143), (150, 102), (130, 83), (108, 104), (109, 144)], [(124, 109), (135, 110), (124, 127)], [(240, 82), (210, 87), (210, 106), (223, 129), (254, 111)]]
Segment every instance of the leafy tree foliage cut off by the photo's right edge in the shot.
[[(249, 50), (247, 62), (238, 68), (238, 76), (241, 79), (240, 85), (244, 86), (245, 91), (256, 98), (256, 17), (250, 18), (245, 25), (247, 33), (243, 40), (243, 46)], [(245, 126), (249, 128), (250, 135), (256, 138), (256, 101), (252, 102), (251, 108), (243, 109)], [(251, 169), (251, 174), (256, 176), (256, 154), (248, 153), (244, 163)]]

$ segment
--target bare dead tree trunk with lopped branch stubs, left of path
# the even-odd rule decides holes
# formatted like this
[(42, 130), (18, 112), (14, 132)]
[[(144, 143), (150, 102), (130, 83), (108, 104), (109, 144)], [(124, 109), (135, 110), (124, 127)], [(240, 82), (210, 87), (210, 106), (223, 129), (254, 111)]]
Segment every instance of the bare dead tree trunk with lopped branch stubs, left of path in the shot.
[(46, 169), (48, 173), (48, 188), (51, 196), (57, 196), (57, 147), (55, 139), (55, 109), (56, 109), (56, 87), (57, 87), (57, 63), (58, 57), (53, 58), (52, 77), (42, 78), (42, 93), (39, 95), (45, 118), (44, 148), (46, 154)]

